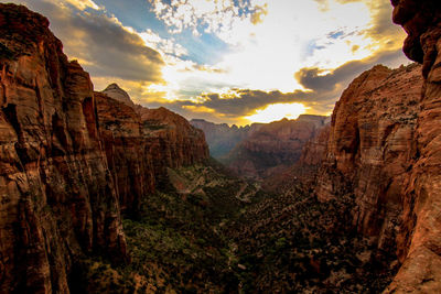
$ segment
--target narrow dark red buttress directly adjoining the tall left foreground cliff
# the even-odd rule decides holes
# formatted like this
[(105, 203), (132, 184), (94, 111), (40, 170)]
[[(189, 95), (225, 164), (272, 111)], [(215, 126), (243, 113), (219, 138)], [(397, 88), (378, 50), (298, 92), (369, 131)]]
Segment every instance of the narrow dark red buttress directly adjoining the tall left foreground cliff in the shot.
[(133, 108), (95, 92), (99, 132), (120, 208), (136, 216), (143, 197), (154, 190), (154, 171), (140, 116)]

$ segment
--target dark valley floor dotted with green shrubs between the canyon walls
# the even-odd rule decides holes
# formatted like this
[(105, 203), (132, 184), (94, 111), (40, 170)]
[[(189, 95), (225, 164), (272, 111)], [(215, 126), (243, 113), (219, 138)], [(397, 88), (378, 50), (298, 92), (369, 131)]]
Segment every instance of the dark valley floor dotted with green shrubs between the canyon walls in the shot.
[(351, 230), (351, 195), (268, 195), (216, 162), (169, 170), (168, 179), (123, 219), (130, 263), (84, 261), (87, 292), (353, 293), (390, 281), (392, 259)]

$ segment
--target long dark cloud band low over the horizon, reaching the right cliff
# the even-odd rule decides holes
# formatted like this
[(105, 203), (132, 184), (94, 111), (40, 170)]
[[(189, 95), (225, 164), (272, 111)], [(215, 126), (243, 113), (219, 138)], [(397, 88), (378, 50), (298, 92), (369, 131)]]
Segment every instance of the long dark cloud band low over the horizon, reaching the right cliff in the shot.
[[(238, 117), (252, 113), (256, 109), (271, 104), (301, 102), (310, 107), (310, 112), (324, 115), (334, 108), (335, 101), (340, 98), (348, 84), (363, 72), (376, 64), (385, 64), (397, 67), (408, 63), (400, 50), (381, 52), (378, 55), (364, 59), (346, 63), (326, 75), (320, 75), (319, 68), (302, 68), (295, 74), (299, 83), (309, 91), (295, 90), (293, 92), (262, 91), (252, 89), (233, 89), (228, 95), (206, 94), (201, 96), (202, 102), (191, 100), (173, 101), (166, 105), (168, 108), (186, 118), (205, 118), (217, 122), (236, 122)], [(164, 102), (148, 104), (148, 107), (159, 107)], [(186, 107), (201, 107), (211, 109), (213, 112), (197, 112)]]

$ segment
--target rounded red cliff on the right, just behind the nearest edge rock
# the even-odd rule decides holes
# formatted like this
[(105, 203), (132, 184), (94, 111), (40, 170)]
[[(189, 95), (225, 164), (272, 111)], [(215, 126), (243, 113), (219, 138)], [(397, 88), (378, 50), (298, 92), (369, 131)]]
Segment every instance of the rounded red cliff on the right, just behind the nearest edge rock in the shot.
[(416, 64), (395, 70), (378, 65), (354, 79), (335, 106), (316, 179), (320, 200), (353, 194), (354, 227), (390, 253), (402, 211), (402, 183), (415, 156), (420, 74)]

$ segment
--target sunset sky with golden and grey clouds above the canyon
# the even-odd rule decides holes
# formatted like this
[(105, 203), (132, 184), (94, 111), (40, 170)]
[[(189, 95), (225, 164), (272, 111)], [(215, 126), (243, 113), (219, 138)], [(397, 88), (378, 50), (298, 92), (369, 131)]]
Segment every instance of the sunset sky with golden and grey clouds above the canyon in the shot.
[(389, 0), (13, 0), (45, 15), (96, 90), (187, 119), (330, 115), (352, 79), (398, 67)]

